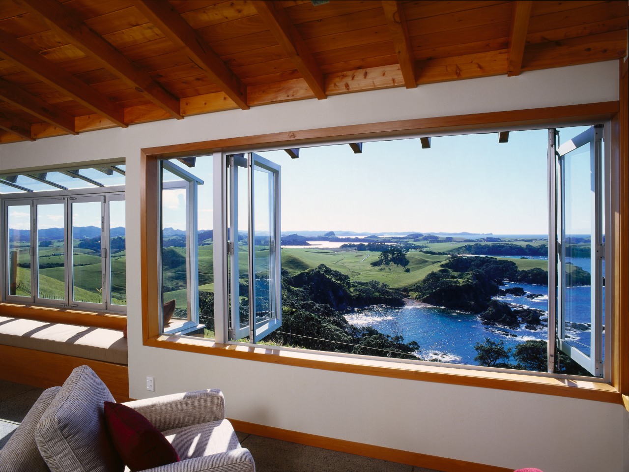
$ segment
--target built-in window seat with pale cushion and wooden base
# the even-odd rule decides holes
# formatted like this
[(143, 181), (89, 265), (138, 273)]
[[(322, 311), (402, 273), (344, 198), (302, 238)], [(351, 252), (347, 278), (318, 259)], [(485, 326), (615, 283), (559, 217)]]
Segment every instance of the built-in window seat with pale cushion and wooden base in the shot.
[(62, 385), (87, 365), (117, 402), (130, 400), (122, 330), (0, 315), (0, 359), (0, 379), (40, 388)]

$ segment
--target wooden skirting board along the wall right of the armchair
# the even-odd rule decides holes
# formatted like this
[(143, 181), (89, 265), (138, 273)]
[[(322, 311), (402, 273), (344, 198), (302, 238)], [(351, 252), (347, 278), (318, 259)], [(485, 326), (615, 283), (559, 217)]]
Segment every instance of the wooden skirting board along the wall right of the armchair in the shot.
[(348, 454), (356, 454), (357, 456), (382, 459), (383, 461), (408, 464), (410, 466), (424, 467), (443, 472), (513, 472), (513, 468), (430, 456), (429, 454), (421, 454), (420, 452), (400, 451), (399, 449), (391, 449), (390, 447), (345, 441), (344, 439), (318, 436), (240, 420), (230, 419), (230, 422), (235, 430), (247, 434), (255, 434), (262, 437), (279, 439), (281, 441), (304, 444), (305, 446), (320, 447), (321, 449), (329, 449), (330, 451), (347, 452)]

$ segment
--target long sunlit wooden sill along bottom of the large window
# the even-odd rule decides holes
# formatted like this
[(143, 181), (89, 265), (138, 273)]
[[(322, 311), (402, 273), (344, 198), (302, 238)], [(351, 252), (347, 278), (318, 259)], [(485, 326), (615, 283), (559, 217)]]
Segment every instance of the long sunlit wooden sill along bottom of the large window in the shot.
[(566, 396), (623, 405), (622, 395), (614, 386), (587, 379), (566, 379), (541, 374), (518, 374), (452, 366), (380, 361), (376, 358), (341, 356), (333, 353), (319, 354), (311, 351), (289, 351), (270, 346), (218, 344), (207, 339), (174, 335), (161, 335), (146, 339), (144, 345), (310, 369)]

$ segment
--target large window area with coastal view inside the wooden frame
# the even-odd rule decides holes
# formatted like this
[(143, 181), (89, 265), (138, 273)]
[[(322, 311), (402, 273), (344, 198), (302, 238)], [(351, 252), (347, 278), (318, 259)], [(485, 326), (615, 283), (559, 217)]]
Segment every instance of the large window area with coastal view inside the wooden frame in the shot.
[[(284, 150), (217, 153), (187, 171), (181, 159), (162, 161), (162, 301), (184, 286), (191, 300), (163, 332), (604, 377), (603, 128), (550, 130), (579, 136), (547, 153), (548, 133), (511, 132), (508, 144), (495, 133), (437, 137), (434, 152), (418, 138), (369, 142), (353, 158), (347, 144), (301, 149), (299, 160)], [(274, 162), (289, 172), (282, 198)], [(225, 204), (216, 193), (194, 198), (191, 188), (208, 181), (225, 188)], [(194, 305), (194, 277), (207, 266), (194, 244), (202, 207), (227, 228), (212, 257), (225, 261), (229, 315), (211, 323)], [(551, 218), (548, 208), (558, 209)], [(426, 232), (438, 225), (449, 232)], [(561, 248), (550, 244), (550, 256), (549, 240)]]

